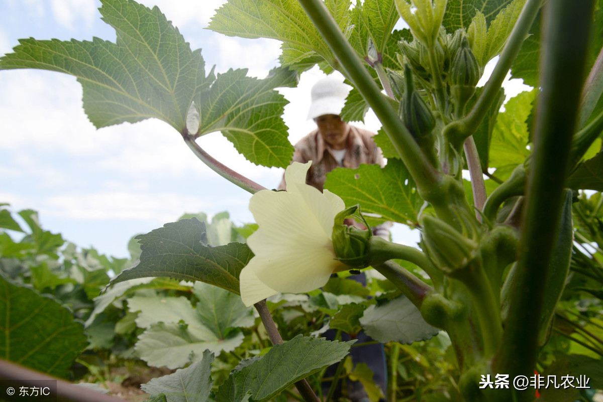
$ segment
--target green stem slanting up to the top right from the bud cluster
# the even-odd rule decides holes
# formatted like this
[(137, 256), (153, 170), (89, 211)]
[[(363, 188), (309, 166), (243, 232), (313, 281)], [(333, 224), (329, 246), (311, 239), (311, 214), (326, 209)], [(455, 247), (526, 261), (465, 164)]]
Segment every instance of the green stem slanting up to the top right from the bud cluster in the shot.
[(523, 6), (523, 10), (517, 19), (517, 23), (511, 31), (511, 35), (507, 40), (505, 48), (500, 53), (496, 67), (492, 71), (492, 75), (488, 82), (484, 85), (484, 90), (479, 94), (472, 110), (461, 120), (455, 120), (444, 128), (450, 142), (455, 147), (460, 147), (465, 138), (478, 129), (479, 123), (484, 120), (490, 106), (498, 97), (500, 85), (505, 80), (507, 72), (511, 68), (511, 64), (515, 61), (519, 49), (522, 47), (523, 40), (528, 36), (529, 28), (540, 9), (542, 0), (527, 0)]

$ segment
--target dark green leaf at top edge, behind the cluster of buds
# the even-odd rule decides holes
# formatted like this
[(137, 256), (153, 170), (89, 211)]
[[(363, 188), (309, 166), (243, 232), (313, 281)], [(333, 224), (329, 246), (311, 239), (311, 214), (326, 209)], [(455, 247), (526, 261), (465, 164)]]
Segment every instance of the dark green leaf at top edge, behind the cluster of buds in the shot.
[(511, 0), (449, 0), (442, 25), (450, 33), (459, 28), (469, 28), (477, 10), (484, 14), (489, 26), (500, 10), (507, 7), (510, 2)]

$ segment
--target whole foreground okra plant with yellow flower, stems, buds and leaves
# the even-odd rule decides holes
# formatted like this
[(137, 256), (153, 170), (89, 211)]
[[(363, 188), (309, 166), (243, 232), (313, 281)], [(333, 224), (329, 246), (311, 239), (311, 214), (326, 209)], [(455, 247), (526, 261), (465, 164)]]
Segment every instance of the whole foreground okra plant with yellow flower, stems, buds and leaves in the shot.
[[(401, 341), (400, 327), (419, 329), (405, 342), (445, 331), (459, 370), (454, 395), (534, 399), (534, 389), (493, 389), (484, 378), (534, 373), (570, 267), (572, 202), (577, 191), (603, 189), (603, 159), (593, 156), (603, 131), (600, 0), (229, 0), (210, 29), (282, 42), (280, 66), (265, 79), (245, 70), (207, 72), (201, 52), (191, 51), (158, 8), (101, 2), (115, 43), (24, 39), (0, 68), (75, 75), (97, 128), (164, 120), (201, 161), (254, 194), (259, 229), (247, 244), (210, 247), (203, 224), (169, 223), (141, 236), (139, 262), (113, 279), (198, 280), (256, 307), (275, 344), (270, 359), (244, 362), (212, 392), (213, 357), (197, 356), (179, 375), (202, 385), (198, 401), (270, 400), (293, 383), (300, 398), (318, 401), (305, 377), (343, 359), (351, 344), (297, 337), (283, 344), (270, 316), (279, 304), (270, 297), (314, 291), (334, 271), (367, 267), (417, 312), (405, 324), (382, 324), (389, 330), (373, 331), (374, 338)], [(400, 19), (408, 28), (394, 29)], [(487, 83), (476, 87), (495, 57)], [(221, 131), (251, 162), (288, 166), (286, 100), (275, 88), (294, 87), (315, 64), (352, 85), (345, 120), (364, 119), (368, 108), (376, 113), (382, 130), (375, 141), (388, 159), (383, 169), (336, 169), (320, 194), (304, 183), (308, 166), (294, 164), (288, 191), (275, 192), (195, 142)], [(535, 90), (500, 113), (509, 70)], [(515, 136), (505, 137), (505, 129)], [(344, 226), (350, 216), (368, 226), (417, 227), (420, 249)], [(296, 370), (285, 375), (282, 366)], [(147, 391), (154, 400), (177, 400), (169, 383), (149, 383)]]

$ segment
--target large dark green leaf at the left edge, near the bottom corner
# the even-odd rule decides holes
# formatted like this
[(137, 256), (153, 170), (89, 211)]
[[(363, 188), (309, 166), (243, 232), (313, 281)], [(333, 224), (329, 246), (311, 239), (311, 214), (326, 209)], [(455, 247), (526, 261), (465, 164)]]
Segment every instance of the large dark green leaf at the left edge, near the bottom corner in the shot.
[(68, 309), (0, 276), (0, 357), (65, 378), (87, 345), (84, 326)]

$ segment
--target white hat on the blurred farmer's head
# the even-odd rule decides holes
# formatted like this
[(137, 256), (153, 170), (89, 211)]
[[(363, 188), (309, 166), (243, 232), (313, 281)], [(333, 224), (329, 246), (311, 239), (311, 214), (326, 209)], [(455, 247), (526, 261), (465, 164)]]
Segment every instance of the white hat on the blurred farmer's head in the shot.
[(308, 119), (316, 119), (324, 114), (341, 114), (351, 89), (350, 85), (344, 84), (335, 76), (327, 76), (317, 81), (311, 91), (312, 104), (308, 111)]

